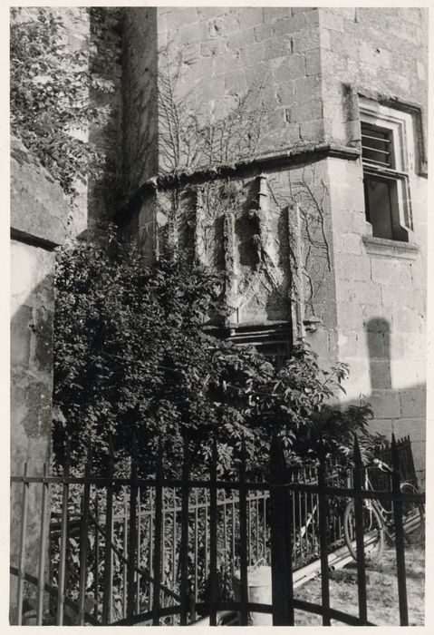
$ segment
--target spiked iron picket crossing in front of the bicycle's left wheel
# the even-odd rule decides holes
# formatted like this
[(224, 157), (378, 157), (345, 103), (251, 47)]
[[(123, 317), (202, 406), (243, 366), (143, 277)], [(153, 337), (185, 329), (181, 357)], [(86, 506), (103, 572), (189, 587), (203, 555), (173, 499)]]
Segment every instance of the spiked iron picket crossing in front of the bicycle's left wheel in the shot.
[(359, 618), (361, 624), (368, 621), (368, 609), (366, 602), (366, 568), (364, 557), (364, 528), (363, 528), (363, 464), (357, 435), (354, 436), (354, 449), (352, 453), (354, 461), (353, 489), (354, 489), (354, 522), (357, 555), (357, 591), (359, 598)]

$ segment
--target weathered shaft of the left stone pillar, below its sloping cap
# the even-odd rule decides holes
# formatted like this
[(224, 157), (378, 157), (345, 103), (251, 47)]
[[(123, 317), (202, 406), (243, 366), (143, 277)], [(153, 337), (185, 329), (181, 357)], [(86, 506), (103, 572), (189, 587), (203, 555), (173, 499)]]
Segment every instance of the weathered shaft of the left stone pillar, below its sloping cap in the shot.
[[(23, 474), (24, 462), (29, 460), (29, 474), (41, 474), (52, 442), (54, 253), (12, 240), (11, 256), (11, 472)], [(18, 486), (11, 492), (10, 549), (14, 565), (19, 548), (21, 492)], [(37, 575), (39, 488), (30, 488), (27, 531), (25, 571)], [(26, 597), (32, 593), (27, 590)], [(14, 621), (14, 583), (10, 597)]]

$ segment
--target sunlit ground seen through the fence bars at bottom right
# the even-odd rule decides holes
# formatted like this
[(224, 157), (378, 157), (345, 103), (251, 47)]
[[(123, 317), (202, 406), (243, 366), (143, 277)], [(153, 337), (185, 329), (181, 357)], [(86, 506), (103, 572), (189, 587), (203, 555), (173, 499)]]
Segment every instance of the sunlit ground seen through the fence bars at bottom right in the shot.
[[(405, 553), (407, 594), (410, 626), (423, 626), (425, 551), (411, 546)], [(296, 598), (321, 604), (321, 579), (319, 577), (294, 590)], [(398, 583), (396, 577), (396, 553), (394, 548), (385, 550), (381, 562), (367, 567), (368, 620), (379, 626), (400, 624)], [(330, 604), (333, 609), (358, 615), (357, 571), (348, 565), (330, 578)], [(304, 611), (295, 611), (295, 626), (320, 626), (321, 617)], [(332, 626), (343, 626), (332, 621)]]

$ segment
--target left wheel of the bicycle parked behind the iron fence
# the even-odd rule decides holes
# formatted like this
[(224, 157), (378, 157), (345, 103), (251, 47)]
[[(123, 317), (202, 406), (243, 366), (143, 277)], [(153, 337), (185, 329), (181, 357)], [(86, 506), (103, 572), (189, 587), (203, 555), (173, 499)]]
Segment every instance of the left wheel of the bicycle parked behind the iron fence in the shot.
[[(379, 561), (384, 551), (384, 526), (381, 515), (372, 504), (363, 504), (363, 539), (365, 545), (365, 560)], [(357, 561), (357, 547), (355, 537), (355, 513), (354, 502), (351, 501), (345, 507), (343, 513), (343, 532), (345, 543)]]

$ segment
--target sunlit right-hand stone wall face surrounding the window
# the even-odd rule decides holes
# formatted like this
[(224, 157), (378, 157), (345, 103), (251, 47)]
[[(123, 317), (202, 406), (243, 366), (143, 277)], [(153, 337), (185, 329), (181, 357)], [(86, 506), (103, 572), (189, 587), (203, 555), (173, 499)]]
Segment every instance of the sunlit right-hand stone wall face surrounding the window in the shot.
[(335, 142), (359, 138), (358, 93), (413, 113), (419, 160), (410, 174), (410, 245), (371, 239), (361, 163), (328, 163), (339, 354), (351, 366), (347, 398), (364, 395), (384, 434), (411, 436), (423, 480), (427, 15), (419, 8), (322, 9), (320, 24), (325, 127)]

